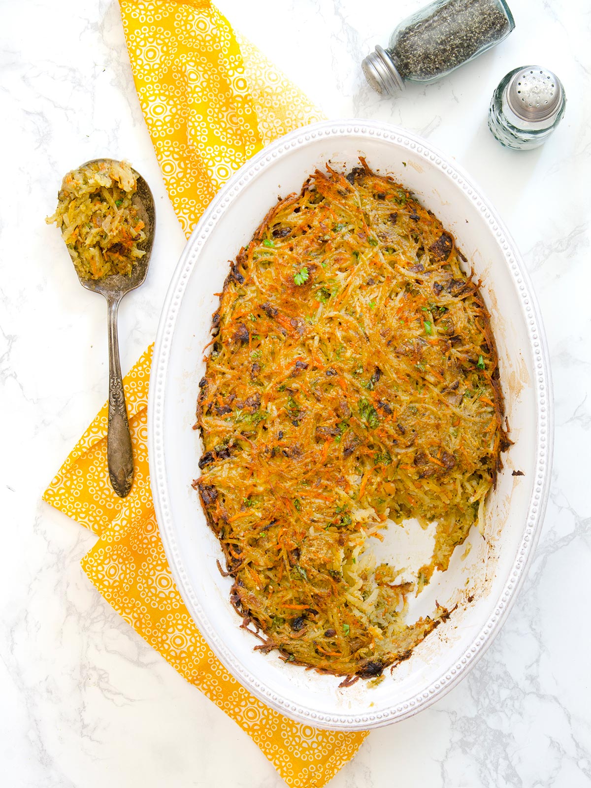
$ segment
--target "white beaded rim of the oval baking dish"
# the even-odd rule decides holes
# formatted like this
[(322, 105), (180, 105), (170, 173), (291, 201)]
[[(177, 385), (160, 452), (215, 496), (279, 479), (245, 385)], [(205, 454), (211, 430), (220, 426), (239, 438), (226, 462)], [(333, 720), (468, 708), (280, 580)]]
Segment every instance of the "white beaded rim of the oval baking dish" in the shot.
[[(236, 195), (246, 187), (261, 169), (265, 168), (278, 156), (292, 148), (303, 147), (315, 139), (325, 137), (355, 136), (356, 138), (378, 138), (396, 143), (400, 147), (413, 151), (428, 159), (437, 169), (447, 173), (449, 177), (468, 195), (476, 204), (482, 217), (488, 222), (496, 236), (497, 243), (503, 251), (507, 266), (511, 271), (522, 307), (526, 315), (526, 325), (530, 336), (530, 346), (533, 354), (533, 370), (535, 373), (533, 386), (537, 402), (537, 445), (536, 463), (532, 494), (528, 506), (526, 526), (523, 530), (521, 545), (515, 557), (513, 567), (508, 575), (504, 589), (496, 600), (492, 615), (482, 626), (480, 633), (463, 652), (463, 656), (442, 671), (440, 677), (432, 682), (422, 693), (418, 693), (407, 700), (393, 705), (385, 711), (364, 714), (325, 714), (318, 709), (303, 708), (298, 704), (290, 703), (283, 697), (273, 693), (272, 690), (262, 685), (255, 676), (236, 658), (225, 646), (220, 637), (209, 625), (203, 608), (195, 590), (191, 586), (184, 561), (180, 555), (175, 537), (173, 517), (169, 504), (169, 490), (165, 474), (165, 457), (163, 443), (163, 396), (165, 391), (166, 374), (168, 370), (169, 352), (173, 338), (173, 330), (177, 321), (177, 314), (184, 290), (188, 283), (193, 266), (199, 256), (210, 232), (224, 213), (226, 207)], [(330, 730), (367, 730), (382, 727), (413, 716), (423, 708), (433, 704), (452, 686), (463, 678), (471, 667), (478, 661), (492, 642), (492, 636), (500, 628), (512, 604), (515, 602), (519, 588), (526, 575), (526, 566), (533, 555), (537, 544), (543, 521), (546, 504), (548, 501), (549, 479), (552, 470), (552, 381), (548, 363), (548, 351), (545, 342), (545, 333), (541, 319), (537, 314), (537, 303), (530, 284), (529, 275), (525, 266), (520, 261), (515, 244), (511, 240), (503, 223), (496, 216), (495, 211), (489, 207), (481, 190), (477, 188), (470, 178), (458, 165), (448, 162), (444, 154), (431, 147), (426, 140), (412, 135), (410, 132), (397, 126), (378, 121), (321, 121), (288, 135), (281, 137), (269, 147), (256, 154), (249, 162), (243, 165), (228, 181), (195, 227), (166, 294), (162, 307), (162, 316), (158, 325), (158, 334), (154, 345), (154, 359), (151, 367), (149, 399), (148, 399), (148, 455), (150, 463), (151, 485), (154, 494), (154, 507), (158, 519), (158, 526), (162, 535), (166, 556), (169, 559), (171, 570), (180, 589), (181, 596), (187, 604), (191, 615), (203, 633), (203, 637), (214, 650), (225, 667), (247, 689), (261, 701), (284, 713), (286, 716), (297, 719), (299, 722), (312, 723), (317, 727)]]

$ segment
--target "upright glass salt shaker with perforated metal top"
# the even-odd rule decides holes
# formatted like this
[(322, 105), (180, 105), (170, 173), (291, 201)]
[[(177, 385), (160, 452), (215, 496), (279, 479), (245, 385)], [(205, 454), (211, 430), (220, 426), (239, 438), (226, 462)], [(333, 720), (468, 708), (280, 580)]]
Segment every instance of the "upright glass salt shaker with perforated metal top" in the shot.
[(505, 147), (539, 147), (562, 121), (567, 97), (555, 73), (540, 65), (510, 71), (496, 87), (489, 128)]

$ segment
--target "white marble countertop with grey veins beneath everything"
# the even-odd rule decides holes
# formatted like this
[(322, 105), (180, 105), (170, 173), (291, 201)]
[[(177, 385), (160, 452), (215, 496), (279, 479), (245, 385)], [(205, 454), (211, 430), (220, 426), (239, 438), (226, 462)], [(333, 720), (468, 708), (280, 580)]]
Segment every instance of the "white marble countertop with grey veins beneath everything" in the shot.
[[(366, 87), (359, 63), (421, 0), (219, 4), (329, 117), (403, 125), (472, 174), (522, 250), (552, 355), (552, 492), (515, 608), (460, 686), (372, 733), (331, 788), (591, 784), (591, 15), (583, 0), (510, 4), (517, 28), (504, 44), (396, 101)], [(128, 157), (156, 197), (151, 271), (120, 311), (125, 369), (154, 338), (184, 236), (143, 123), (117, 2), (1, 5), (0, 783), (279, 788), (251, 739), (87, 582), (79, 561), (95, 537), (40, 500), (106, 398), (104, 303), (80, 288), (43, 222), (62, 174), (89, 158)], [(559, 74), (569, 103), (544, 147), (517, 153), (492, 138), (486, 112), (500, 77), (530, 61)]]

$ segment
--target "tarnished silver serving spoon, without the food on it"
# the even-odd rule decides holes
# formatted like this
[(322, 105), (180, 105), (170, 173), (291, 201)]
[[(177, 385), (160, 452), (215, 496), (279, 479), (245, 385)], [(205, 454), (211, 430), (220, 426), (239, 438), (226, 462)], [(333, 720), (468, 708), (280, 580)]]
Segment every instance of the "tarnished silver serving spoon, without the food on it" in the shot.
[[(83, 165), (80, 165), (80, 169), (87, 167), (89, 164), (102, 162), (113, 162), (113, 159), (95, 158), (91, 162), (85, 162)], [(137, 191), (133, 195), (132, 204), (137, 211), (138, 218), (143, 221), (143, 232), (146, 234), (146, 238), (141, 243), (138, 243), (138, 248), (145, 251), (146, 254), (134, 264), (131, 276), (113, 273), (101, 279), (83, 279), (80, 277), (80, 274), (78, 275), (83, 288), (105, 296), (108, 307), (109, 421), (106, 433), (106, 455), (111, 485), (121, 498), (125, 498), (129, 490), (132, 489), (133, 452), (132, 437), (129, 434), (125, 392), (123, 391), (123, 381), (121, 379), (119, 342), (117, 340), (117, 310), (125, 293), (139, 288), (139, 285), (146, 278), (156, 225), (154, 197), (150, 187), (135, 169), (133, 173), (137, 178)]]

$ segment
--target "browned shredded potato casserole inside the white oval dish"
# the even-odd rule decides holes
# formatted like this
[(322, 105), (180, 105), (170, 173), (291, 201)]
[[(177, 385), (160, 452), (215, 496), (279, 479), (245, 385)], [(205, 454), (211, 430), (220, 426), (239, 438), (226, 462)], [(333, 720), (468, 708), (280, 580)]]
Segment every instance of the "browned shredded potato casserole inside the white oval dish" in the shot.
[[(448, 611), (407, 597), (481, 521), (509, 441), (478, 284), (440, 221), (366, 162), (316, 171), (232, 262), (199, 383), (195, 480), (231, 600), (284, 660), (363, 678)], [(388, 519), (437, 522), (414, 582)], [(393, 526), (392, 526), (393, 527)]]

